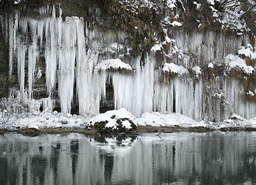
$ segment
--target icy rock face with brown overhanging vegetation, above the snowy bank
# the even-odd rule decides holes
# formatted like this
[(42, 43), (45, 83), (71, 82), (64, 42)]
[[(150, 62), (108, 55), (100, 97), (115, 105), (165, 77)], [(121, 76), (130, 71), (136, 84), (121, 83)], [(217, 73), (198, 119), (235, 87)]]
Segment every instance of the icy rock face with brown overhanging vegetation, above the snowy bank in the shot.
[(247, 19), (255, 11), (241, 2), (2, 6), (5, 108), (97, 114), (125, 107), (135, 116), (157, 111), (216, 122), (232, 113), (254, 117), (255, 30)]

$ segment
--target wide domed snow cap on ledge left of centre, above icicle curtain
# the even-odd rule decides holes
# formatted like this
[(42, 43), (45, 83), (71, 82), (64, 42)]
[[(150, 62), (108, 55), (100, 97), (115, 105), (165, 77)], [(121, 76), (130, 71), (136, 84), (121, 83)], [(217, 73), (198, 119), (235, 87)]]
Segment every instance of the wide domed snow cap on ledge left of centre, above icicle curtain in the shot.
[(103, 60), (101, 63), (97, 64), (95, 67), (96, 71), (107, 71), (108, 69), (125, 69), (128, 71), (132, 71), (132, 68), (130, 65), (128, 65), (125, 62), (122, 62), (121, 59), (108, 59)]

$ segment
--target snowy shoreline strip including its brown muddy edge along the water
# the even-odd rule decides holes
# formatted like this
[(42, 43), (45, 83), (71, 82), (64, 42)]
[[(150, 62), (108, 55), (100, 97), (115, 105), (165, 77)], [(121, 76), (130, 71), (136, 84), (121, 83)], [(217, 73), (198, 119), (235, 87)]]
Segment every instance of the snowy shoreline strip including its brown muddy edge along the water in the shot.
[[(3, 117), (3, 116), (2, 116)], [(5, 118), (6, 119), (6, 118)], [(101, 124), (101, 129), (97, 127)], [(122, 129), (121, 129), (122, 128)], [(34, 112), (10, 116), (0, 123), (1, 133), (24, 132), (36, 133), (141, 133), (141, 132), (176, 132), (176, 131), (256, 131), (256, 118), (244, 119), (233, 115), (221, 123), (196, 121), (179, 113), (144, 113), (135, 118), (126, 109), (111, 110), (97, 116), (77, 116), (63, 113)], [(107, 130), (107, 131), (106, 131)], [(114, 130), (114, 132), (110, 132)]]

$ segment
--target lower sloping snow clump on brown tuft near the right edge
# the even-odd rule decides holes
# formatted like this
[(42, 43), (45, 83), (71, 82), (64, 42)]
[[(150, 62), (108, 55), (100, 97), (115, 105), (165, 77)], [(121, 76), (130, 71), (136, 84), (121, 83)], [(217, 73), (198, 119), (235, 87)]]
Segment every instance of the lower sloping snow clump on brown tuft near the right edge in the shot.
[(252, 66), (247, 66), (244, 59), (241, 59), (237, 55), (229, 54), (225, 57), (225, 62), (228, 66), (228, 69), (241, 69), (243, 72), (247, 73), (248, 75), (252, 74), (255, 69)]

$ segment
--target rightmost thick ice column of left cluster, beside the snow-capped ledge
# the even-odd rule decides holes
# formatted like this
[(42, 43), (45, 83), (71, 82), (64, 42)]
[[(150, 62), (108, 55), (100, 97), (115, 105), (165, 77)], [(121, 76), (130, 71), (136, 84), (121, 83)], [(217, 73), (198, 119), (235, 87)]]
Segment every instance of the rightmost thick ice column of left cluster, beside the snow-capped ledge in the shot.
[[(89, 34), (89, 33), (88, 33)], [(88, 39), (88, 38), (87, 38)], [(90, 42), (96, 45), (95, 39)], [(94, 66), (98, 62), (98, 52), (92, 52), (86, 45), (88, 40), (84, 38), (84, 19), (77, 22), (77, 96), (79, 102), (79, 113), (99, 113), (101, 99), (101, 84), (104, 79), (94, 73)], [(93, 48), (92, 48), (93, 49)], [(101, 80), (100, 80), (101, 79)]]

